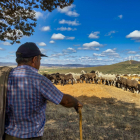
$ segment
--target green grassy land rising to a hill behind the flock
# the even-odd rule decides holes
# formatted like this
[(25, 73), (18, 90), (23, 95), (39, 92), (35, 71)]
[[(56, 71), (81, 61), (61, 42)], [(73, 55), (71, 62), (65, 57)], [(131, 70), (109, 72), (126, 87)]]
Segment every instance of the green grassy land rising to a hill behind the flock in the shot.
[(40, 68), (39, 73), (68, 73), (68, 72), (74, 72), (74, 73), (81, 73), (81, 70), (85, 70), (87, 72), (90, 72), (92, 70), (99, 70), (103, 73), (111, 73), (111, 74), (140, 74), (140, 62), (132, 61), (130, 64), (130, 61), (125, 61), (113, 65), (105, 65), (105, 66), (99, 66), (99, 67), (88, 67), (88, 68)]

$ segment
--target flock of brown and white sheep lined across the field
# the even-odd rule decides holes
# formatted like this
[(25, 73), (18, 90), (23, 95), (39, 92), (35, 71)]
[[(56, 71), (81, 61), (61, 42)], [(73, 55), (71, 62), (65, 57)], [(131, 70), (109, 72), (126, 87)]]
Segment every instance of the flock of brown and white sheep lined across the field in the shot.
[(61, 82), (61, 85), (65, 85), (71, 81), (73, 83), (95, 83), (95, 84), (105, 84), (109, 86), (115, 86), (118, 88), (122, 88), (125, 91), (131, 92), (140, 92), (140, 75), (136, 74), (103, 74), (99, 71), (91, 71), (90, 73), (86, 73), (84, 70), (81, 73), (54, 73), (54, 74), (43, 74), (48, 79), (50, 79), (53, 83), (57, 84)]

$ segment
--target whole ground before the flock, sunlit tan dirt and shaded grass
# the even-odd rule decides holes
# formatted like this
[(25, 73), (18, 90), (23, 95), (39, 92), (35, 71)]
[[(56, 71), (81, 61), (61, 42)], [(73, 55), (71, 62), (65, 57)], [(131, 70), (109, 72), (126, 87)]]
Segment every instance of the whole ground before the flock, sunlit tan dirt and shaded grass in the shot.
[[(81, 101), (83, 140), (140, 140), (140, 95), (100, 84), (56, 85)], [(79, 114), (47, 104), (43, 140), (79, 140)]]

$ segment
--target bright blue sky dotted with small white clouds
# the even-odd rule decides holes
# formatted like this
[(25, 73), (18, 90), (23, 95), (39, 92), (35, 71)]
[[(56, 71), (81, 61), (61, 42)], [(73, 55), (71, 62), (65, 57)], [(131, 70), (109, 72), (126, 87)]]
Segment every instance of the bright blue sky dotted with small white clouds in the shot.
[[(139, 0), (75, 0), (52, 12), (36, 11), (34, 35), (21, 44), (35, 42), (43, 64), (110, 65), (140, 61)], [(21, 44), (0, 42), (0, 62), (15, 62)]]

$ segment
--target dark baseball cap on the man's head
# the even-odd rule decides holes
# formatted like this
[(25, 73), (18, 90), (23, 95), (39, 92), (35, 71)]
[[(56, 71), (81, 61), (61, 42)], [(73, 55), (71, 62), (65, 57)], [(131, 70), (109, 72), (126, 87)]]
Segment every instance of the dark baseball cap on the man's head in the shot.
[(38, 55), (48, 57), (42, 54), (37, 45), (33, 42), (26, 42), (22, 44), (16, 51), (16, 57), (30, 58)]

